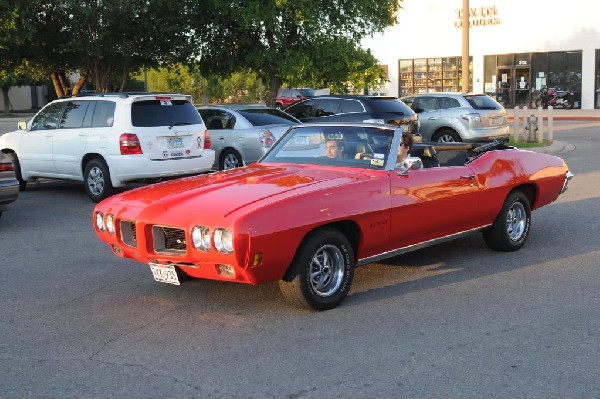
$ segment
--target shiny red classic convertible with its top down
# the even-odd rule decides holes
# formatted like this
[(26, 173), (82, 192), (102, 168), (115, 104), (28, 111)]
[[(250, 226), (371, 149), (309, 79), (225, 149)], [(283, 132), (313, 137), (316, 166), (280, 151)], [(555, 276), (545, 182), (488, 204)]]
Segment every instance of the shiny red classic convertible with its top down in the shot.
[(499, 142), (416, 143), (408, 168), (396, 163), (401, 140), (393, 126), (297, 125), (249, 166), (107, 198), (93, 224), (157, 281), (279, 281), (289, 300), (324, 310), (358, 265), (473, 232), (519, 249), (531, 210), (572, 176), (558, 157)]

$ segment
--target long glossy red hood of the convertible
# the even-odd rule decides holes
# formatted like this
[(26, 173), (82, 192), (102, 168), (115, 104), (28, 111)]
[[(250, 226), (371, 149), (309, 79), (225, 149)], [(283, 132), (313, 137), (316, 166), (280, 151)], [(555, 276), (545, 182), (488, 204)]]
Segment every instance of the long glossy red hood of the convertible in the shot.
[(117, 202), (142, 208), (160, 204), (169, 210), (177, 207), (225, 216), (263, 199), (349, 184), (360, 176), (356, 169), (339, 167), (252, 164), (126, 191), (117, 196)]

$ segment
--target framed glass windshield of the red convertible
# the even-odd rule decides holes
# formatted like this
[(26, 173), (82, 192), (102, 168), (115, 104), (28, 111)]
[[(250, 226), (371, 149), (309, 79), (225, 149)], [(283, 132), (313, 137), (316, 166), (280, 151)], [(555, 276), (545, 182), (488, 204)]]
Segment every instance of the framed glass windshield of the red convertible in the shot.
[(385, 127), (298, 126), (259, 162), (384, 169), (393, 136)]

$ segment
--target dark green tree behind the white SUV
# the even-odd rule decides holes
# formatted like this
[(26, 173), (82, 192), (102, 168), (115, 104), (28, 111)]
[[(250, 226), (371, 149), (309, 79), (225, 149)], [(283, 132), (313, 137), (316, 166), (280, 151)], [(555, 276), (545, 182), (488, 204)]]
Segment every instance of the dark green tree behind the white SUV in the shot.
[(71, 94), (66, 76), (80, 73), (98, 91), (124, 89), (142, 65), (188, 56), (185, 15), (170, 0), (29, 0), (34, 33), (21, 53), (32, 74), (50, 76), (58, 96)]

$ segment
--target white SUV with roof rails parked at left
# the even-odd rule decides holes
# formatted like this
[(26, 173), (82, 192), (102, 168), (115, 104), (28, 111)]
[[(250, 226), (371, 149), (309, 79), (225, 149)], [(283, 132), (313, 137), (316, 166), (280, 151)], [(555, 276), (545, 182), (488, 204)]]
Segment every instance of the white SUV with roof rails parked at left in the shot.
[(115, 187), (207, 172), (215, 153), (191, 97), (105, 93), (59, 99), (0, 136), (21, 189), (38, 177), (85, 182), (99, 202)]

